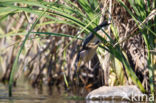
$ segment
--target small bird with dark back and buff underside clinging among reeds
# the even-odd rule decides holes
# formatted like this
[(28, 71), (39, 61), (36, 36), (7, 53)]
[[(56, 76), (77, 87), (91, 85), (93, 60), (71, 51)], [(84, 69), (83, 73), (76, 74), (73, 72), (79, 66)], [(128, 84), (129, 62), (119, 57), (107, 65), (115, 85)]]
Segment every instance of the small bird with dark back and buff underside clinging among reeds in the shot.
[(97, 25), (93, 29), (94, 32), (90, 32), (89, 35), (83, 40), (82, 48), (80, 49), (80, 51), (78, 51), (75, 59), (75, 72), (79, 70), (82, 62), (83, 64), (87, 63), (93, 58), (96, 53), (96, 49), (98, 47), (98, 44), (100, 43), (100, 40), (94, 33), (101, 30), (103, 27), (108, 26), (109, 24), (110, 23), (108, 21), (103, 21), (100, 25)]

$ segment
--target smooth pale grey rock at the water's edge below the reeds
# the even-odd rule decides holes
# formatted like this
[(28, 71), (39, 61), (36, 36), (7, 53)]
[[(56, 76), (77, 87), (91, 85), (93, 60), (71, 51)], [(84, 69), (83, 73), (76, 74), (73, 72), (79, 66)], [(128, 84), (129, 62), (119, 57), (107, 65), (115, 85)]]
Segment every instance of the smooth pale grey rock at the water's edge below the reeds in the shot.
[(91, 91), (87, 100), (130, 100), (136, 96), (143, 96), (143, 93), (134, 85), (131, 86), (103, 86)]

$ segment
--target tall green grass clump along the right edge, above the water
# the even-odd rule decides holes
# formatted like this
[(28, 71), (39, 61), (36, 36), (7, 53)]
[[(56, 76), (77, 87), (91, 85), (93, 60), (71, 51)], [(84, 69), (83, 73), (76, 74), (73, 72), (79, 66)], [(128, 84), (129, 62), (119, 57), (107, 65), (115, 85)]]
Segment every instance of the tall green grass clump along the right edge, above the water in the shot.
[[(152, 15), (149, 15), (154, 11), (155, 9), (155, 2), (150, 1), (142, 1), (142, 0), (135, 0), (131, 1), (128, 0), (130, 3), (130, 6), (134, 10), (134, 13), (124, 4), (123, 1), (118, 0), (118, 2), (127, 10), (127, 12), (132, 16), (132, 18), (135, 20), (136, 24), (138, 24), (139, 31), (142, 33), (142, 37), (144, 38), (146, 47), (147, 47), (147, 63), (148, 63), (148, 69), (149, 69), (149, 83), (150, 83), (150, 89), (151, 93), (154, 94), (154, 64), (152, 64), (151, 61), (153, 61), (152, 57), (153, 55), (150, 53), (150, 50), (155, 49), (154, 40), (156, 37), (156, 33), (153, 31), (154, 25), (152, 25), (153, 21), (155, 21), (155, 13)], [(155, 12), (155, 11), (154, 11)], [(151, 19), (147, 19), (148, 17)], [(145, 24), (146, 23), (146, 24)], [(143, 24), (140, 26), (140, 24)]]

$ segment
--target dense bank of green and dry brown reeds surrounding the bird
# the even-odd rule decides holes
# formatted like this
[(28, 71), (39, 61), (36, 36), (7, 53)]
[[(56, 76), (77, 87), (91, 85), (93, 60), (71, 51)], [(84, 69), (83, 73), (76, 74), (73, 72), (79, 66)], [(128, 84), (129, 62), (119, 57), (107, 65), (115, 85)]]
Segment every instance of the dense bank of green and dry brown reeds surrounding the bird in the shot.
[[(10, 80), (10, 95), (23, 74), (34, 87), (45, 83), (88, 92), (128, 83), (154, 94), (155, 5), (155, 0), (1, 0), (1, 81)], [(94, 33), (101, 43), (75, 76), (81, 42), (103, 20), (111, 25)]]

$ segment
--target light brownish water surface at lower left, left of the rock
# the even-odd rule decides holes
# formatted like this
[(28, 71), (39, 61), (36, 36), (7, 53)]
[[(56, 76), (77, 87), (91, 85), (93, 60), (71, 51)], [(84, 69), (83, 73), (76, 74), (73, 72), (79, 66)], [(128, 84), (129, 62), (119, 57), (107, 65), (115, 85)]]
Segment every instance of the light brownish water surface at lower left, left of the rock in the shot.
[[(45, 86), (46, 87), (46, 86)], [(55, 89), (54, 89), (55, 90)], [(129, 103), (121, 101), (85, 101), (67, 99), (65, 94), (57, 91), (48, 94), (48, 89), (42, 92), (33, 89), (28, 83), (19, 83), (13, 88), (13, 97), (8, 97), (8, 87), (0, 83), (0, 103)]]

